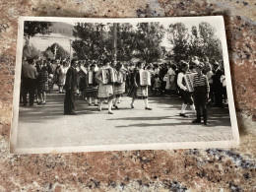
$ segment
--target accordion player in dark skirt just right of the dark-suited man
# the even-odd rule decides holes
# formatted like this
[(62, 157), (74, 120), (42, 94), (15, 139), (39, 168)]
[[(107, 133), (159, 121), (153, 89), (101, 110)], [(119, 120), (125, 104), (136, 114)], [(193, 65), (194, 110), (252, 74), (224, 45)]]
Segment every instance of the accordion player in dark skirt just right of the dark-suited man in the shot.
[[(92, 82), (89, 82), (90, 75), (93, 75)], [(90, 70), (87, 73), (87, 81), (86, 81), (86, 97), (89, 99), (89, 105), (92, 105), (92, 99), (95, 98), (95, 105), (97, 106), (97, 87), (98, 84), (96, 83), (96, 64), (92, 64), (90, 66)]]

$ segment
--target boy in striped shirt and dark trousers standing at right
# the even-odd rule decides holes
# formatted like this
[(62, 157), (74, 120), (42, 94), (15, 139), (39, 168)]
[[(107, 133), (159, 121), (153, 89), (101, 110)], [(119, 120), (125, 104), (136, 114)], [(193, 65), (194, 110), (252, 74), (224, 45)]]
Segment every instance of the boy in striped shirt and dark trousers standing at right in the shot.
[(201, 108), (203, 109), (204, 124), (208, 125), (207, 122), (207, 108), (206, 102), (210, 93), (210, 86), (208, 78), (202, 73), (203, 65), (200, 63), (196, 67), (197, 74), (193, 78), (194, 85), (194, 102), (197, 111), (197, 118), (192, 121), (193, 123), (201, 123)]

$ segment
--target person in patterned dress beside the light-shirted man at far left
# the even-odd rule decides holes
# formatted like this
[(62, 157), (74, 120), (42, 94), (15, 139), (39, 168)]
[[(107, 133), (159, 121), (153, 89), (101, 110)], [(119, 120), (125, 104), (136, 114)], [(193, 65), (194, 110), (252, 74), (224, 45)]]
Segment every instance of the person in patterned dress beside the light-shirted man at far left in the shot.
[(49, 90), (49, 85), (48, 85), (48, 67), (47, 66), (42, 66), (41, 70), (39, 71), (38, 74), (38, 98), (40, 101), (38, 104), (45, 104), (46, 103), (46, 92)]

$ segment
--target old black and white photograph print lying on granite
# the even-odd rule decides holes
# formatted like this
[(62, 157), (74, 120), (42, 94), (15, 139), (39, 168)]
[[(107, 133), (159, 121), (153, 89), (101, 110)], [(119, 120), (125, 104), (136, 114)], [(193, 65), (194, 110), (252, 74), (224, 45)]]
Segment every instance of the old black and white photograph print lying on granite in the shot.
[(222, 16), (19, 20), (11, 153), (237, 147)]

